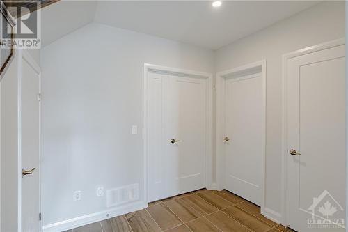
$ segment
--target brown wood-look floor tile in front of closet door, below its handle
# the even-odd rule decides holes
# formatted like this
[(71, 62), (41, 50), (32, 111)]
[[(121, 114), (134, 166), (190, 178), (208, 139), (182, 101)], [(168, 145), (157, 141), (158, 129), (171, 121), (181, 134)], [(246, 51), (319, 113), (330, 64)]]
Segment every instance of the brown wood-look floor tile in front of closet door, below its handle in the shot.
[(179, 217), (182, 222), (189, 222), (191, 220), (202, 217), (199, 212), (194, 210), (191, 206), (187, 205), (182, 199), (176, 199), (174, 201), (167, 201), (164, 203), (168, 208), (170, 208), (177, 217)]

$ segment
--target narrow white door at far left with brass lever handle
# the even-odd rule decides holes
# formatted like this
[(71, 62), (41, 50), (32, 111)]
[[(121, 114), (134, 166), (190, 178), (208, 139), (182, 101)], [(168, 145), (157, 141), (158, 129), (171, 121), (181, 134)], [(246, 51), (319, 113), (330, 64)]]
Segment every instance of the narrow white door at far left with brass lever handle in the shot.
[[(22, 231), (40, 229), (40, 73), (29, 63), (29, 56), (22, 59), (21, 98), (21, 157), (22, 169), (29, 171), (22, 176)], [(28, 59), (25, 59), (28, 58)], [(30, 170), (35, 168), (32, 173)]]

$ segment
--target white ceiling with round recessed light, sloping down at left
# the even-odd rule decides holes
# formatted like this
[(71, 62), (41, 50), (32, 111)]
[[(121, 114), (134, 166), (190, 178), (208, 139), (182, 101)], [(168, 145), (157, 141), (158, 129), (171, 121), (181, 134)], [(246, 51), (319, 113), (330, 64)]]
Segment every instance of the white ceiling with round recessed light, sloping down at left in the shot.
[[(42, 9), (42, 43), (90, 22), (219, 49), (318, 1), (59, 1)], [(54, 26), (52, 26), (54, 25)]]

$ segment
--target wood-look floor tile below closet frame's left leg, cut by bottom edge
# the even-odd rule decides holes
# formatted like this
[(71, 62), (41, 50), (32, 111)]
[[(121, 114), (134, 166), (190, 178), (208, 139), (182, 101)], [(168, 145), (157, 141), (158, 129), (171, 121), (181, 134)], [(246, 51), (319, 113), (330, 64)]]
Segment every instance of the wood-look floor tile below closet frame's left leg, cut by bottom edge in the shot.
[(161, 231), (156, 222), (152, 219), (148, 211), (139, 210), (129, 212), (125, 215), (129, 225), (134, 232), (158, 232)]

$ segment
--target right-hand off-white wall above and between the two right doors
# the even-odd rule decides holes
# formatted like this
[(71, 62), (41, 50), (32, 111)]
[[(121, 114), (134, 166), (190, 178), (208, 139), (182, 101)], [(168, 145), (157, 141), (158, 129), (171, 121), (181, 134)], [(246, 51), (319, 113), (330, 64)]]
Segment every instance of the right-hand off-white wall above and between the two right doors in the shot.
[(345, 36), (345, 2), (320, 3), (216, 51), (215, 70), (267, 59), (266, 208), (281, 212), (282, 55)]

